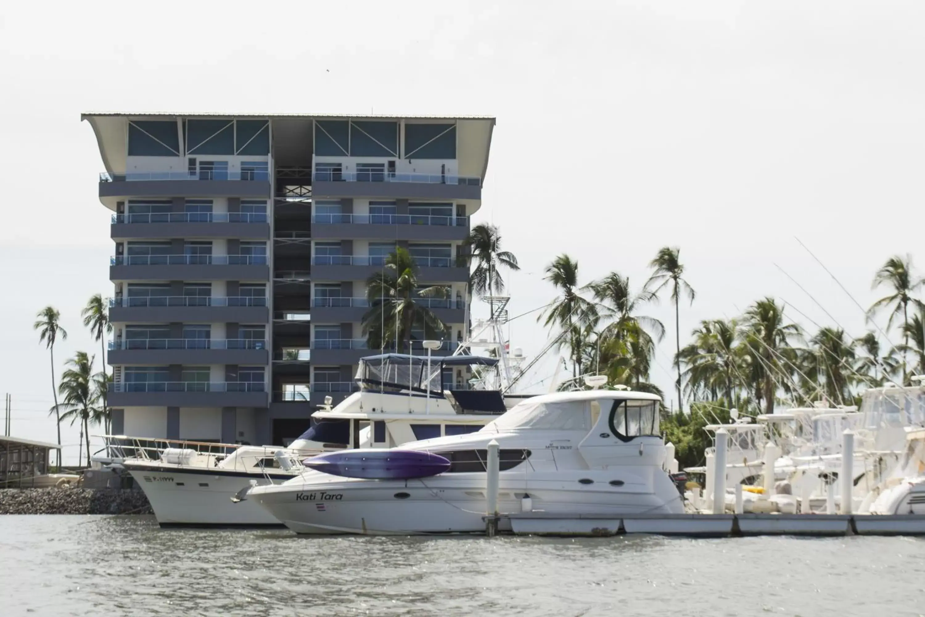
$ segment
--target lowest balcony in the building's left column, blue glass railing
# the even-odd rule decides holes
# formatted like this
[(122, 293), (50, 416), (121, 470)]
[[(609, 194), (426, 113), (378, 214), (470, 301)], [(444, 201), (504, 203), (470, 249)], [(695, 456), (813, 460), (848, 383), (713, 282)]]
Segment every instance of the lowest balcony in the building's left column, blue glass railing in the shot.
[(161, 381), (111, 383), (106, 402), (114, 407), (266, 407), (263, 383)]

